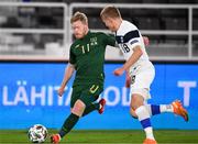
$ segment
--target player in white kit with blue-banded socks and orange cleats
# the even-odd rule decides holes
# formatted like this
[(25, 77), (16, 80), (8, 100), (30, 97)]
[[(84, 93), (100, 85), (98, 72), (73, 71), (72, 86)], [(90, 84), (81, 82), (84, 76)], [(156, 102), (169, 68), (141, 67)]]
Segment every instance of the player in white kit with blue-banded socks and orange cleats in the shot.
[(188, 121), (188, 113), (178, 100), (170, 104), (156, 106), (146, 103), (146, 100), (151, 98), (150, 85), (154, 79), (155, 69), (148, 59), (140, 31), (131, 22), (122, 20), (120, 11), (112, 5), (103, 8), (100, 16), (106, 26), (116, 32), (117, 43), (125, 58), (123, 66), (113, 73), (116, 76), (120, 76), (124, 71), (129, 73), (131, 78), (130, 113), (139, 119), (144, 129), (146, 139), (143, 144), (156, 144), (150, 121), (152, 115), (173, 112)]

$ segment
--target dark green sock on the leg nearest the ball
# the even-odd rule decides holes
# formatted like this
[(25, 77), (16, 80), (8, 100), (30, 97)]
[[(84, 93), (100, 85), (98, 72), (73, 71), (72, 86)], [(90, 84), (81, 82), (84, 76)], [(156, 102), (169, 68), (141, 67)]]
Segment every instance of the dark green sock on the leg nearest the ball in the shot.
[(70, 132), (70, 130), (76, 125), (78, 120), (78, 115), (70, 113), (70, 115), (65, 120), (64, 125), (59, 131), (59, 136), (64, 137), (68, 132)]

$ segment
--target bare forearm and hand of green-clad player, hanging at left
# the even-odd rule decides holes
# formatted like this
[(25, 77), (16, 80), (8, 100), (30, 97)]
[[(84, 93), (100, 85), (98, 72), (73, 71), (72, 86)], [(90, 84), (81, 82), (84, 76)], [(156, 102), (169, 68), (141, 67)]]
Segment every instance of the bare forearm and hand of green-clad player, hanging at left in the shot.
[(62, 85), (61, 85), (61, 87), (59, 87), (59, 89), (57, 91), (59, 97), (62, 97), (62, 95), (64, 93), (65, 86), (67, 85), (68, 80), (73, 76), (74, 71), (75, 71), (74, 65), (68, 64), (68, 66), (65, 68), (65, 75), (64, 75)]

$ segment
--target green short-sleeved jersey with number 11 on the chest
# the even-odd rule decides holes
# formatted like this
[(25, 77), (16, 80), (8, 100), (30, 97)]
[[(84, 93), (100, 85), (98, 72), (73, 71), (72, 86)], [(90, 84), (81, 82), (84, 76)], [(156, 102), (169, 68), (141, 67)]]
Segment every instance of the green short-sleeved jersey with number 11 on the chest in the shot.
[(103, 85), (103, 64), (106, 46), (114, 46), (113, 36), (88, 32), (84, 38), (70, 46), (69, 63), (75, 66), (76, 77), (73, 86), (99, 82)]

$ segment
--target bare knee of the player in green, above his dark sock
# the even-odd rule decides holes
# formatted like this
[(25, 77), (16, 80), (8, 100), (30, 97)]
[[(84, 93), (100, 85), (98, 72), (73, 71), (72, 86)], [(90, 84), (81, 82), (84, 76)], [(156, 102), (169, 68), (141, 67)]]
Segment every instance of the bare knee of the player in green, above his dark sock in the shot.
[(85, 108), (86, 108), (86, 104), (81, 100), (77, 100), (75, 102), (74, 108), (72, 109), (72, 113), (74, 113), (74, 114), (76, 114), (78, 117), (81, 117), (82, 113), (84, 113)]

